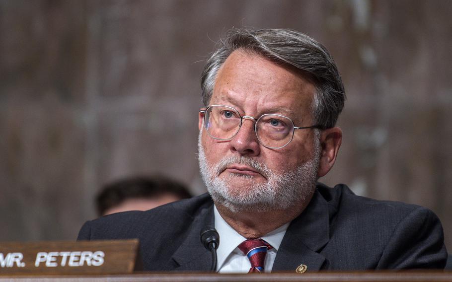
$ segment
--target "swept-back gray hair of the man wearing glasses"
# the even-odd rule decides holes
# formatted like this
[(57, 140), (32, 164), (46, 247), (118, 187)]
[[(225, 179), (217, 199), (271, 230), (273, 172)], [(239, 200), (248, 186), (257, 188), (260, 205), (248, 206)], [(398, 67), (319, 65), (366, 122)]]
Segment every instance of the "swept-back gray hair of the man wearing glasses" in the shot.
[(207, 61), (201, 76), (205, 106), (212, 98), (218, 70), (237, 49), (300, 70), (316, 86), (312, 104), (315, 124), (323, 128), (335, 126), (345, 100), (344, 85), (336, 64), (322, 44), (291, 29), (229, 30), (221, 47)]

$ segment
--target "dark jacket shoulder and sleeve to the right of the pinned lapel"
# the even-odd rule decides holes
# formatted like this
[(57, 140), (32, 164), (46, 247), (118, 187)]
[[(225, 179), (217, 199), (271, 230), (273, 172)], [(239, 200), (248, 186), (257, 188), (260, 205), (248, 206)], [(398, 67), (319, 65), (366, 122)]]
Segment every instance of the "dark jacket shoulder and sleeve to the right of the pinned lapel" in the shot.
[(330, 269), (444, 267), (443, 229), (433, 211), (357, 196), (342, 184), (319, 192), (329, 205), (330, 241), (322, 252)]

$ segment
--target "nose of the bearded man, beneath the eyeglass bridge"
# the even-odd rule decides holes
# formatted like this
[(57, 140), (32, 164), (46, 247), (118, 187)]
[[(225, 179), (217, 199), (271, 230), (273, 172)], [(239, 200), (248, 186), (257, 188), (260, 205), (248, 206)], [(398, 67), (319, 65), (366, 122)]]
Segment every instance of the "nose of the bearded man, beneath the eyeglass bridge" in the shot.
[(244, 116), (242, 118), (242, 126), (238, 133), (229, 142), (232, 151), (238, 152), (240, 155), (255, 156), (260, 153), (260, 143), (257, 140), (254, 124), (256, 119)]

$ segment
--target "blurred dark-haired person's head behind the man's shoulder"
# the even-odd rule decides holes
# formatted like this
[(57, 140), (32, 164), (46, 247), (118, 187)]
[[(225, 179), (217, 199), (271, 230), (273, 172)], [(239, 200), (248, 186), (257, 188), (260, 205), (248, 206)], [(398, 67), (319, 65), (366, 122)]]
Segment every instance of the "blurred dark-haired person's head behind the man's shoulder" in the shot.
[(96, 197), (99, 216), (122, 211), (147, 211), (190, 198), (187, 187), (163, 176), (137, 176), (111, 182)]

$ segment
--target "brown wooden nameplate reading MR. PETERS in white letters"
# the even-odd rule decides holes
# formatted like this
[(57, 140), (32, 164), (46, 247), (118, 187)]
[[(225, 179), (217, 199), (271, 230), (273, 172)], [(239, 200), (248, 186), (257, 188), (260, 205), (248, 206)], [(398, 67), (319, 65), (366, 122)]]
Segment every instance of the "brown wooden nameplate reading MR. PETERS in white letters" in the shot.
[(0, 242), (0, 274), (130, 274), (141, 267), (138, 248), (138, 239)]

